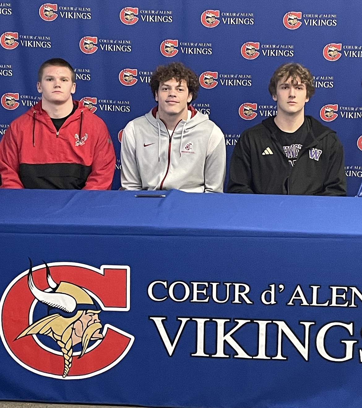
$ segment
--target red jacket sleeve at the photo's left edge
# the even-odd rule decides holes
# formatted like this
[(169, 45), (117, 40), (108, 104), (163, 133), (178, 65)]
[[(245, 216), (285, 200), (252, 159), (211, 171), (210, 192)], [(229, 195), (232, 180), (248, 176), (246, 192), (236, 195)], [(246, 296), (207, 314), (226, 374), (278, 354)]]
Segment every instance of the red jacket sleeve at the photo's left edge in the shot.
[(19, 155), (11, 126), (0, 142), (0, 188), (24, 188), (19, 178)]

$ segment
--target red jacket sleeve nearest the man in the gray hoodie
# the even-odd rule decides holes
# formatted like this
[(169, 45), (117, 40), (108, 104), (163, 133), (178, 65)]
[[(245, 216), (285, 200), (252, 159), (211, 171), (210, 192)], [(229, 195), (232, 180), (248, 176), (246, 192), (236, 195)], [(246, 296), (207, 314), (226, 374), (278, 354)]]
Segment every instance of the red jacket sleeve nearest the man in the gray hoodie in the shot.
[(112, 139), (103, 120), (100, 125), (98, 142), (95, 145), (92, 171), (84, 190), (110, 190), (115, 173), (116, 155)]

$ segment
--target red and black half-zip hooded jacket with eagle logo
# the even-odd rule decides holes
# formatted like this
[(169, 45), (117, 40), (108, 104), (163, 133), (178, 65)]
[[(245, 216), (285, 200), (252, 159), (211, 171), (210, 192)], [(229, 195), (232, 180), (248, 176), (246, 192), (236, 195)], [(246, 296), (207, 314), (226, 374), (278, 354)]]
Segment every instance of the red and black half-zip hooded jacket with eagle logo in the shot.
[(41, 101), (0, 142), (1, 188), (108, 190), (115, 151), (106, 124), (82, 103), (59, 131)]

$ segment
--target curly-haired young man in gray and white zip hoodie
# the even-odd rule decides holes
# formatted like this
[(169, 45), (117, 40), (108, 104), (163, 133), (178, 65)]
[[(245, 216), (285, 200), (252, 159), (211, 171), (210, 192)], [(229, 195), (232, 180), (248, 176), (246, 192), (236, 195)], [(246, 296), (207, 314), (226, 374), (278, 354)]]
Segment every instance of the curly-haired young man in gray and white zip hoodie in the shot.
[(150, 86), (158, 105), (122, 133), (122, 188), (222, 193), (225, 139), (208, 115), (191, 105), (199, 90), (196, 73), (181, 62), (161, 65)]

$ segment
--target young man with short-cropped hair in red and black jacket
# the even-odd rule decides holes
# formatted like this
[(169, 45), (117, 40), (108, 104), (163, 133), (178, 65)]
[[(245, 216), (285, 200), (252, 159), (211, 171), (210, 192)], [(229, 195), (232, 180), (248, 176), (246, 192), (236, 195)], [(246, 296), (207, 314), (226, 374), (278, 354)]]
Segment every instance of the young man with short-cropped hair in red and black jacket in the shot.
[(42, 100), (0, 142), (1, 188), (109, 190), (115, 151), (106, 124), (73, 101), (75, 73), (61, 58), (38, 71)]

